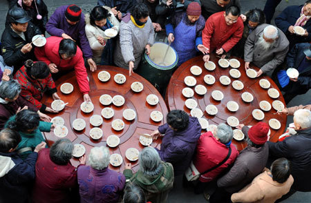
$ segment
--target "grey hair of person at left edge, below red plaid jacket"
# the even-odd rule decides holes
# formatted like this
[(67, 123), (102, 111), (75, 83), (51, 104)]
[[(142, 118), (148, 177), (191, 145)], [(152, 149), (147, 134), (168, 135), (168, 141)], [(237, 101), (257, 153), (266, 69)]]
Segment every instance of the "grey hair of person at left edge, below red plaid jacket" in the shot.
[(17, 81), (1, 81), (0, 97), (2, 99), (14, 99), (19, 93), (21, 93), (21, 85)]

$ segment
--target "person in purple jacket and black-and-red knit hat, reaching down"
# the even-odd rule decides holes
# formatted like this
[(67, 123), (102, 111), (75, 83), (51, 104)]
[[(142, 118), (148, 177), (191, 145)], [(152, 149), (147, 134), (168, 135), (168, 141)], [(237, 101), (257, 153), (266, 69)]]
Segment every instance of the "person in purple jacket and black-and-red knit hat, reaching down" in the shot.
[(46, 23), (46, 32), (52, 36), (77, 41), (91, 71), (96, 70), (97, 66), (92, 59), (93, 52), (85, 35), (84, 14), (81, 8), (75, 4), (59, 6)]

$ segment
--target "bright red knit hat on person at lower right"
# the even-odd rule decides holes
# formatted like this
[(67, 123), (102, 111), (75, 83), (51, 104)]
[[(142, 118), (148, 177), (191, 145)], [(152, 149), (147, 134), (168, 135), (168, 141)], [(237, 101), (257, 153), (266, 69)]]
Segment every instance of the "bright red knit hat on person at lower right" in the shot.
[(265, 144), (267, 142), (267, 133), (269, 126), (264, 122), (258, 122), (256, 125), (249, 128), (248, 137), (254, 144)]

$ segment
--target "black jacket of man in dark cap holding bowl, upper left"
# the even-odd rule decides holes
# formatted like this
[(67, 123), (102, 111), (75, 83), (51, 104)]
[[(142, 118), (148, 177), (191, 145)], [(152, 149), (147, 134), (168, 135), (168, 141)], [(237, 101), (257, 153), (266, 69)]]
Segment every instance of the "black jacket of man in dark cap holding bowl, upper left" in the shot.
[(19, 35), (17, 35), (17, 33), (14, 32), (10, 26), (6, 26), (6, 29), (2, 33), (2, 56), (4, 62), (8, 66), (14, 66), (14, 73), (19, 70), (21, 66), (23, 66), (23, 63), (27, 59), (32, 59), (34, 61), (36, 60), (33, 46), (32, 50), (26, 54), (23, 54), (23, 52), (21, 52), (21, 48), (26, 43), (30, 43), (32, 37), (34, 37), (35, 35), (41, 35), (42, 32), (33, 23), (28, 22), (28, 27), (24, 34), (26, 41), (23, 40)]

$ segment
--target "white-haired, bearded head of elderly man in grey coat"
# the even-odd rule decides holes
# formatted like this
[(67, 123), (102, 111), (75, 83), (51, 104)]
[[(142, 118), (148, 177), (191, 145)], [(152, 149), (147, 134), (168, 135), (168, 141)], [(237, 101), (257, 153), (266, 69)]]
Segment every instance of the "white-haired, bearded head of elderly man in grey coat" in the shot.
[(258, 38), (258, 44), (261, 48), (263, 48), (263, 50), (268, 50), (274, 45), (274, 43), (276, 43), (276, 39), (278, 38), (278, 29), (270, 25), (263, 29), (263, 33)]

